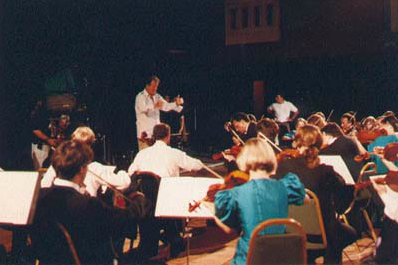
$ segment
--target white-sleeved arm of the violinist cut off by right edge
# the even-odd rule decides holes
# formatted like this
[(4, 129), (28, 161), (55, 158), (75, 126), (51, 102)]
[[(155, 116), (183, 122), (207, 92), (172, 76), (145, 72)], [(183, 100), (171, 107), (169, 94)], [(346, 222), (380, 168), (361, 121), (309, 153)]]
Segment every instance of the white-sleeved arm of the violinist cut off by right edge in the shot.
[(377, 184), (374, 180), (384, 178), (386, 175), (370, 176), (372, 185), (384, 203), (384, 213), (391, 219), (398, 222), (398, 192), (393, 191), (388, 185)]

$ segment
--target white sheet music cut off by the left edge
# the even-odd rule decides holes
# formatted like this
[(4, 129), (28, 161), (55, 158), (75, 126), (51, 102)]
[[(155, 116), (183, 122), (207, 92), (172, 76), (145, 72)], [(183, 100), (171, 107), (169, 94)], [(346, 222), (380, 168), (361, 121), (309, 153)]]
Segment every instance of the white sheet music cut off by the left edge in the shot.
[(39, 190), (37, 172), (0, 172), (0, 223), (31, 223)]

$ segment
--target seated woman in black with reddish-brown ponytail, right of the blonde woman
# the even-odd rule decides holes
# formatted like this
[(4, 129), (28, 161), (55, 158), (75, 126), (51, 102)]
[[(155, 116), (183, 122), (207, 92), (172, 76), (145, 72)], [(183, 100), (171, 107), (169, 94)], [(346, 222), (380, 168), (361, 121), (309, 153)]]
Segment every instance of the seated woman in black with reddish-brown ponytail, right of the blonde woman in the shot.
[(275, 177), (282, 178), (289, 172), (297, 174), (305, 188), (318, 196), (328, 241), (325, 263), (341, 263), (342, 250), (356, 240), (356, 233), (338, 220), (336, 205), (340, 206), (344, 201), (348, 207), (354, 188), (346, 186), (332, 166), (320, 164), (318, 154), (323, 140), (317, 127), (305, 125), (299, 128), (294, 141), (301, 157), (282, 160)]

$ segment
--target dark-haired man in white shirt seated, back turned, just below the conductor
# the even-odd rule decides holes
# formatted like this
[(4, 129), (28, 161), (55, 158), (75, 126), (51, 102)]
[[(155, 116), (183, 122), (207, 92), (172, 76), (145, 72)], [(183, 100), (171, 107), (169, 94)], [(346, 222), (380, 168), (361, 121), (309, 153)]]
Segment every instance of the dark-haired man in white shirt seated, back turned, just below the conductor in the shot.
[[(139, 151), (134, 158), (128, 169), (130, 175), (137, 172), (152, 172), (160, 178), (178, 177), (180, 169), (193, 171), (203, 168), (203, 163), (199, 159), (192, 158), (185, 152), (169, 146), (170, 127), (167, 124), (155, 125), (153, 138), (156, 141), (155, 144)], [(138, 249), (143, 260), (158, 254), (161, 229), (165, 230), (166, 239), (170, 242), (171, 257), (178, 256), (184, 250), (185, 243), (179, 235), (180, 225), (178, 222), (149, 216), (139, 223), (141, 240)]]

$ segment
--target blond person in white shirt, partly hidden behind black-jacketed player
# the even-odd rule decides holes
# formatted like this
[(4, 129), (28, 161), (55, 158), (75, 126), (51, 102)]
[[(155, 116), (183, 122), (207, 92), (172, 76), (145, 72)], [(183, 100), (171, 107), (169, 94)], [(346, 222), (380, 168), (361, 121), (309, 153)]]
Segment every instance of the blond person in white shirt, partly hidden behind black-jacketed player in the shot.
[[(89, 127), (79, 127), (72, 134), (72, 141), (88, 144), (91, 146), (95, 142), (95, 134)], [(101, 179), (107, 183), (103, 183)], [(41, 187), (51, 187), (56, 181), (56, 172), (50, 166), (41, 180)], [(119, 170), (117, 174), (113, 173), (112, 167), (107, 167), (98, 162), (91, 162), (88, 165), (86, 178), (84, 179), (85, 191), (92, 197), (97, 197), (98, 189), (102, 186), (102, 191), (106, 191), (106, 184), (111, 184), (119, 190), (129, 187), (131, 179), (127, 172)], [(84, 191), (82, 191), (84, 192)]]

